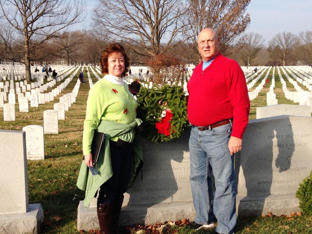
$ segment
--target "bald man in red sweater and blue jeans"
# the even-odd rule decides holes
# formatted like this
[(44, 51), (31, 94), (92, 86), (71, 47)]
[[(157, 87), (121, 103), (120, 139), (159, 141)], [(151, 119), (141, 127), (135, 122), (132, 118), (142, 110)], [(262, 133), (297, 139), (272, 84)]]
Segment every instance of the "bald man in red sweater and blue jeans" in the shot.
[(219, 52), (216, 31), (203, 29), (197, 42), (202, 62), (187, 85), (192, 124), (190, 185), (197, 213), (190, 227), (214, 227), (215, 216), (215, 234), (232, 234), (236, 225), (234, 154), (241, 150), (250, 110), (246, 80), (239, 64)]

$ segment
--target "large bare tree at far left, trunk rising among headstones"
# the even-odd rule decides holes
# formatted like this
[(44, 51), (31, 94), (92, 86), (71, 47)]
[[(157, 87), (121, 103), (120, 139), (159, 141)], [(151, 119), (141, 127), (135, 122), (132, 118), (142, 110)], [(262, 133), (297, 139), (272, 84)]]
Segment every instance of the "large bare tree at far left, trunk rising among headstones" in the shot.
[(38, 46), (62, 30), (80, 22), (84, 0), (0, 0), (0, 14), (6, 27), (12, 27), (23, 41), (26, 80), (31, 80), (30, 62)]

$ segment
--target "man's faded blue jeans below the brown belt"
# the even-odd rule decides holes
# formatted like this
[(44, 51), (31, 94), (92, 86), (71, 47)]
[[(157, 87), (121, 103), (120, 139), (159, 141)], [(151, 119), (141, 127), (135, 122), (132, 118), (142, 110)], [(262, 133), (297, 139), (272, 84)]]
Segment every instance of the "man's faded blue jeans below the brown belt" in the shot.
[[(215, 216), (218, 222), (216, 231), (221, 234), (232, 234), (236, 225), (234, 156), (228, 149), (231, 133), (232, 123), (206, 131), (193, 126), (189, 139), (195, 222), (210, 224)], [(214, 199), (211, 171), (216, 187)]]

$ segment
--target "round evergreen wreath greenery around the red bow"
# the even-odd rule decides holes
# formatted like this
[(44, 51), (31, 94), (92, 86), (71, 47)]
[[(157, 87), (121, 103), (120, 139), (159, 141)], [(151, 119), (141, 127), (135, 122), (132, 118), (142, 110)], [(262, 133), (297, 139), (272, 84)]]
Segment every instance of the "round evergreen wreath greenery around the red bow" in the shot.
[[(161, 119), (164, 107), (158, 104), (159, 100), (162, 103), (168, 102), (167, 107), (173, 113), (169, 136), (159, 134), (155, 128), (155, 124)], [(144, 122), (142, 136), (150, 139), (152, 142), (170, 141), (178, 138), (189, 125), (186, 98), (181, 87), (169, 85), (151, 89), (142, 87), (138, 93), (137, 101), (137, 117)]]

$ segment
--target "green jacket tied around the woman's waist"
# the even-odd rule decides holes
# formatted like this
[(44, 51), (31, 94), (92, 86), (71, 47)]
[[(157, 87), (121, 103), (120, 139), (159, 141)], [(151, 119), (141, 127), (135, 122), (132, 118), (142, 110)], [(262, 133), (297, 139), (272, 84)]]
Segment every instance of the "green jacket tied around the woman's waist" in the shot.
[(131, 165), (130, 181), (128, 188), (133, 184), (135, 177), (139, 173), (143, 164), (143, 153), (139, 137), (135, 134), (135, 129), (142, 123), (141, 119), (134, 119), (130, 124), (117, 123), (115, 121), (101, 120), (97, 131), (105, 133), (104, 150), (101, 150), (98, 163), (98, 175), (93, 176), (89, 168), (82, 160), (80, 172), (77, 180), (77, 187), (85, 191), (84, 205), (87, 208), (100, 186), (113, 176), (110, 160), (109, 139), (118, 136), (119, 139), (132, 142), (134, 160)]

